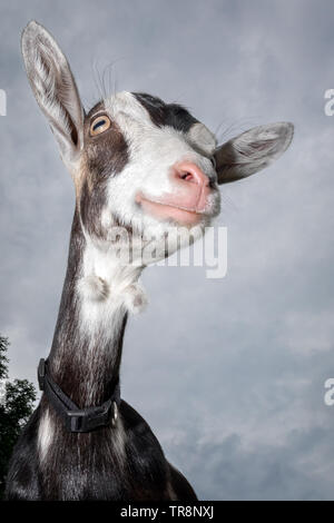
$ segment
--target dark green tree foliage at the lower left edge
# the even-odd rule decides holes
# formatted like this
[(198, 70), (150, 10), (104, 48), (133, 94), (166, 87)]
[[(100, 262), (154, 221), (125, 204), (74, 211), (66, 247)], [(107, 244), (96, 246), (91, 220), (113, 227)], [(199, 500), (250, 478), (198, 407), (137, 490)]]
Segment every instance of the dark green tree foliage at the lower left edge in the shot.
[(28, 379), (8, 378), (8, 338), (0, 336), (0, 499), (3, 495), (8, 462), (22, 427), (33, 411), (36, 389)]

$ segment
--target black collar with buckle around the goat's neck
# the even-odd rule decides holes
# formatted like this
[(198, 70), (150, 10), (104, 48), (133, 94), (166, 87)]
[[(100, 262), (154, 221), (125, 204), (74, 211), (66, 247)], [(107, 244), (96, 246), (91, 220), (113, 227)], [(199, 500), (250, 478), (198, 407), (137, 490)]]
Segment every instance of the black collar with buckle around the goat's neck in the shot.
[(91, 432), (110, 424), (117, 418), (120, 405), (120, 388), (117, 383), (111, 396), (99, 407), (79, 408), (53, 382), (48, 371), (48, 362), (40, 359), (38, 365), (39, 388), (43, 391), (62, 418), (68, 432)]

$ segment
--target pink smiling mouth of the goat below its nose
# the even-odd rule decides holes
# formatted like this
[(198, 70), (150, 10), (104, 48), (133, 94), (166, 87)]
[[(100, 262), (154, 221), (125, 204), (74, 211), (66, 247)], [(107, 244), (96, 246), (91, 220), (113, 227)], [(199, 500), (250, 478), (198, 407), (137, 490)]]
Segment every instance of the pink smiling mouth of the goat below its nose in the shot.
[(139, 193), (136, 196), (136, 203), (144, 211), (155, 218), (163, 220), (173, 220), (181, 225), (197, 225), (203, 220), (204, 211), (196, 208), (181, 207), (179, 205), (166, 201), (154, 200)]

